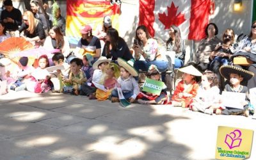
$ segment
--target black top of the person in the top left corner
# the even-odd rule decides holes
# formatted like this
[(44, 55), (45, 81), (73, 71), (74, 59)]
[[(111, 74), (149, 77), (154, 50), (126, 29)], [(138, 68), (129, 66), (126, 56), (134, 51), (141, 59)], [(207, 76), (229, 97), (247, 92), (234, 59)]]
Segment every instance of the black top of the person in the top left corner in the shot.
[(17, 30), (22, 23), (22, 15), (20, 10), (18, 10), (17, 8), (13, 8), (11, 12), (3, 10), (3, 12), (1, 13), (1, 21), (8, 17), (12, 18), (14, 20), (14, 23), (5, 23), (6, 29), (11, 31)]

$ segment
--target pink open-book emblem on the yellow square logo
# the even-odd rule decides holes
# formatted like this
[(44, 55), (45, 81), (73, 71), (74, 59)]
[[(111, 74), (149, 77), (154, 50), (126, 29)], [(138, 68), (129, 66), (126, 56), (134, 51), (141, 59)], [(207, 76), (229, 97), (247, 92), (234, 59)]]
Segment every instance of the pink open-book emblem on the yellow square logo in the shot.
[(225, 143), (230, 149), (239, 147), (242, 141), (242, 138), (240, 138), (241, 135), (242, 132), (239, 129), (236, 129), (233, 132), (230, 132), (230, 134), (226, 135)]

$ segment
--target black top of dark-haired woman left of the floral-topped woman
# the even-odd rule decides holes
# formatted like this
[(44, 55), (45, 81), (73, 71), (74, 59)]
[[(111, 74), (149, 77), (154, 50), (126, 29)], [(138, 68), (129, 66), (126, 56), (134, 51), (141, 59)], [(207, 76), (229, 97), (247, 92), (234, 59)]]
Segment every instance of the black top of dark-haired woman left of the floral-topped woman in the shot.
[(112, 58), (112, 60), (117, 60), (117, 58), (123, 58), (125, 61), (129, 61), (134, 59), (130, 52), (130, 49), (123, 38), (119, 37), (117, 42), (117, 49), (111, 49), (110, 54), (106, 55), (106, 44), (104, 45), (102, 56), (106, 56), (107, 58)]

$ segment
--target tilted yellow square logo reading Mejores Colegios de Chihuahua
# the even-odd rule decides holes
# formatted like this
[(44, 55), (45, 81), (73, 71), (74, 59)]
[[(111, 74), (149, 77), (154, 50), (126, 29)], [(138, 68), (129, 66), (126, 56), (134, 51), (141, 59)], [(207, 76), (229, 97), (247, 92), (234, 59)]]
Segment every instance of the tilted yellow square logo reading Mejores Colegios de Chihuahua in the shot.
[(252, 150), (253, 130), (218, 127), (216, 159), (246, 159)]

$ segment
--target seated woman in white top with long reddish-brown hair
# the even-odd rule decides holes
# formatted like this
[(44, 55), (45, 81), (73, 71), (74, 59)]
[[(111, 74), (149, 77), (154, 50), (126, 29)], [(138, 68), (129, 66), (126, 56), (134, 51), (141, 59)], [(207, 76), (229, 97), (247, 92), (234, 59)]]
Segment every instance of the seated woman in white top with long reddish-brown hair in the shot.
[(61, 33), (58, 26), (53, 26), (49, 31), (49, 36), (46, 37), (44, 47), (47, 49), (60, 49), (65, 58), (70, 53), (68, 38)]

